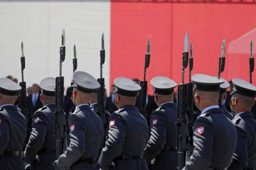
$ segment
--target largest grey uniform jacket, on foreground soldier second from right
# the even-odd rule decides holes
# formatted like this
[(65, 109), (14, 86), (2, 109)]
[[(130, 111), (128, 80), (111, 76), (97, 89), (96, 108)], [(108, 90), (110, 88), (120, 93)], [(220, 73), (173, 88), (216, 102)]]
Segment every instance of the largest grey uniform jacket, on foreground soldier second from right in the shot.
[(193, 131), (195, 149), (183, 169), (228, 167), (236, 147), (237, 133), (223, 109), (213, 108), (198, 117)]

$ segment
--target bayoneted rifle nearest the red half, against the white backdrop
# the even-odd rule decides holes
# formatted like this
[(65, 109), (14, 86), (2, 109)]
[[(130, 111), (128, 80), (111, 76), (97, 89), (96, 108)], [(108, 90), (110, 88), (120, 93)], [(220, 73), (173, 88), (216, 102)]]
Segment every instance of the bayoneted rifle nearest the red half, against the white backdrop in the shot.
[[(98, 102), (98, 112), (96, 114), (99, 116), (100, 114), (105, 114), (105, 99), (104, 99), (104, 86), (105, 86), (105, 79), (102, 78), (102, 65), (105, 63), (105, 49), (104, 49), (104, 33), (101, 36), (101, 50), (100, 50), (100, 78), (98, 82), (100, 83), (100, 88), (97, 90), (97, 102)], [(109, 129), (109, 114), (106, 115), (106, 124), (104, 125), (105, 130)], [(106, 138), (104, 138), (106, 139)]]

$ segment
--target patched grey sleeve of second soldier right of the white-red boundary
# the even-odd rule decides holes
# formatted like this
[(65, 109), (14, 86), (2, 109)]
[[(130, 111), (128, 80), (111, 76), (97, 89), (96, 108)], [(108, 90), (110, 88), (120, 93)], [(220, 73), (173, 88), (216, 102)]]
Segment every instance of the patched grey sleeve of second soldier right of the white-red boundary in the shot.
[(144, 151), (147, 165), (150, 164), (163, 149), (166, 139), (167, 119), (161, 111), (155, 111), (150, 118), (151, 136)]

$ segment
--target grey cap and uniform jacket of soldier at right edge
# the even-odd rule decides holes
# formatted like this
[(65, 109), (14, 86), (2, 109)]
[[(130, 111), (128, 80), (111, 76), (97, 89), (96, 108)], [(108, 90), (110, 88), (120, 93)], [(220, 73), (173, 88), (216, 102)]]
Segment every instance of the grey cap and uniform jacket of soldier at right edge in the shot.
[[(234, 88), (230, 95), (239, 95), (255, 98), (256, 87), (242, 79), (233, 79)], [(232, 120), (237, 130), (237, 145), (233, 154), (229, 170), (256, 168), (256, 120), (252, 112), (241, 112), (236, 114)]]

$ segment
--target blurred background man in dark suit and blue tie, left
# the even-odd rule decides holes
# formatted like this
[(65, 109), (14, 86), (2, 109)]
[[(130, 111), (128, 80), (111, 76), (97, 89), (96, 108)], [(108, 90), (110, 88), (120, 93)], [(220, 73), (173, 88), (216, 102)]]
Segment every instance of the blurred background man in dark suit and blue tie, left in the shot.
[(40, 94), (39, 94), (40, 87), (37, 84), (33, 84), (32, 91), (33, 94), (31, 96), (28, 96), (28, 113), (35, 113), (38, 109), (43, 107), (43, 104), (40, 100)]

